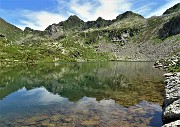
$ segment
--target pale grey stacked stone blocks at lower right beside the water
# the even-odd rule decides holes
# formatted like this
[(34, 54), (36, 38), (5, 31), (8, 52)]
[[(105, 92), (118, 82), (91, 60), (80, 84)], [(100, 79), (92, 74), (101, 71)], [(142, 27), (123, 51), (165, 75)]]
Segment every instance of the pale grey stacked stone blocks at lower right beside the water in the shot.
[[(180, 72), (165, 74), (165, 99), (163, 104), (163, 123), (180, 126)], [(175, 122), (176, 121), (176, 122)], [(174, 122), (174, 123), (171, 123)], [(164, 127), (168, 125), (164, 125)], [(176, 126), (172, 126), (176, 127)]]

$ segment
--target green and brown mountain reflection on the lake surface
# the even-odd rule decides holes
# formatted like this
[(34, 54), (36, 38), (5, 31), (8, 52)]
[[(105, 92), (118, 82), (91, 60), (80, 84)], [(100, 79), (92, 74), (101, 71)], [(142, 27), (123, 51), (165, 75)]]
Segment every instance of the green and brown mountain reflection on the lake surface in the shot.
[(19, 65), (2, 68), (0, 77), (1, 99), (23, 87), (41, 86), (74, 102), (87, 96), (129, 106), (162, 99), (162, 72), (150, 62)]

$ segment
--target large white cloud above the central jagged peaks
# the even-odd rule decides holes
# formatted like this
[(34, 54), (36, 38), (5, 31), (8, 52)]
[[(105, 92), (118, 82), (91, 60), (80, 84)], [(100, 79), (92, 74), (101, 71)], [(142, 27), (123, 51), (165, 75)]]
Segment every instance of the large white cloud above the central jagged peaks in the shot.
[(99, 3), (99, 6), (89, 1), (81, 3), (79, 0), (72, 0), (69, 8), (86, 21), (96, 20), (98, 17), (113, 19), (131, 8), (131, 3), (128, 0), (96, 0), (96, 3)]

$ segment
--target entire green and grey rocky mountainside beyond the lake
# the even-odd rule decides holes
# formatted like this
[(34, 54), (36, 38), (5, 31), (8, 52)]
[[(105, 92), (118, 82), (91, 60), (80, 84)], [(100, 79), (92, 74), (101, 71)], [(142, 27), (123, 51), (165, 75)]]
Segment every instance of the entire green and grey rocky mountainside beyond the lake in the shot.
[(148, 19), (131, 11), (87, 22), (73, 15), (44, 31), (0, 19), (0, 62), (154, 61), (179, 52), (179, 21), (179, 4)]

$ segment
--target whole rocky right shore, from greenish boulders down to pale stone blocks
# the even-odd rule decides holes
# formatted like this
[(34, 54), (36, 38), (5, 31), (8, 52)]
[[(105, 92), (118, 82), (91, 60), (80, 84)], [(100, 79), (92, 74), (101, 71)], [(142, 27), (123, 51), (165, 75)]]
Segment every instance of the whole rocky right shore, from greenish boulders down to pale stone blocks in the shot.
[(159, 60), (155, 67), (171, 73), (165, 73), (165, 94), (163, 103), (162, 121), (163, 127), (180, 126), (180, 53)]

